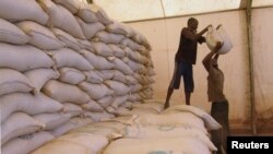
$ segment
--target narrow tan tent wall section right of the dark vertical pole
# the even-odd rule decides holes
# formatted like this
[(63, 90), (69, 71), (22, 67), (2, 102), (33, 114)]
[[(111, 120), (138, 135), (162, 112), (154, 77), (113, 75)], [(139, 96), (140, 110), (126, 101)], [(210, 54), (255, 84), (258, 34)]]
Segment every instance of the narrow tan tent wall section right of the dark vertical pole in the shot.
[(258, 118), (273, 116), (273, 8), (252, 10), (254, 98)]

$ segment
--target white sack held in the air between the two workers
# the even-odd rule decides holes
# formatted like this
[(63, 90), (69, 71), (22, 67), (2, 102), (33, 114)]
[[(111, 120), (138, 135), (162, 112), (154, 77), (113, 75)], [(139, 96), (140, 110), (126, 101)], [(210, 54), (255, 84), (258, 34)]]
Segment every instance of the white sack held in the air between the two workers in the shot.
[(218, 50), (218, 54), (221, 55), (227, 54), (233, 48), (233, 43), (222, 25), (218, 26), (218, 28), (214, 28), (213, 26), (209, 27), (205, 42), (211, 50), (214, 49), (217, 42), (221, 42), (222, 44), (224, 43), (224, 45)]

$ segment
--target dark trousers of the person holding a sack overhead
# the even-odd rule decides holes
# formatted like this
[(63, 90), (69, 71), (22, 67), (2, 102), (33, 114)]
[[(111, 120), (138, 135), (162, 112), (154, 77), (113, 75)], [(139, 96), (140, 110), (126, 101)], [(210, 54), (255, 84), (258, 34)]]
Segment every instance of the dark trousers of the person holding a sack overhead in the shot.
[(222, 154), (221, 146), (226, 151), (226, 139), (229, 135), (228, 102), (213, 102), (211, 115), (222, 125), (222, 129), (212, 131), (212, 142), (218, 149), (217, 154)]

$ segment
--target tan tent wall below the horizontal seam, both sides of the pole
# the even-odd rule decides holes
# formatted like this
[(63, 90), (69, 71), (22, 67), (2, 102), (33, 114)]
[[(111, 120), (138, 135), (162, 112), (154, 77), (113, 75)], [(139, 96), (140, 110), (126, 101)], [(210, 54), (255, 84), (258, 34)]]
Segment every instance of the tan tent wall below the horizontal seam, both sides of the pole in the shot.
[[(262, 14), (262, 15), (261, 15)], [(253, 64), (256, 104), (258, 115), (272, 107), (272, 57), (271, 39), (272, 29), (270, 25), (270, 14), (272, 8), (254, 9), (252, 14), (253, 25)], [(210, 13), (203, 15), (192, 15), (199, 20), (199, 31), (207, 24), (217, 26), (222, 24), (230, 36), (234, 48), (230, 52), (219, 57), (219, 67), (225, 73), (224, 92), (229, 102), (229, 119), (232, 126), (242, 127), (250, 125), (250, 68), (247, 39), (247, 22), (245, 10)], [(154, 97), (165, 99), (169, 81), (174, 70), (174, 57), (178, 48), (180, 29), (187, 25), (189, 16), (128, 23), (133, 28), (140, 31), (152, 45), (152, 59), (155, 66), (156, 76), (154, 84)], [(263, 22), (262, 22), (263, 21)], [(261, 26), (263, 26), (261, 28)], [(262, 49), (262, 51), (261, 51)], [(205, 110), (210, 110), (211, 104), (206, 96), (207, 73), (202, 66), (202, 59), (209, 52), (206, 45), (199, 46), (197, 64), (193, 68), (195, 82), (194, 93), (191, 104)], [(262, 54), (261, 54), (262, 52)], [(272, 70), (272, 69), (271, 69)], [(183, 85), (175, 91), (171, 96), (173, 104), (185, 104)], [(270, 112), (271, 114), (271, 112)], [(268, 118), (273, 114), (268, 115)], [(260, 116), (261, 117), (261, 116)], [(248, 127), (251, 128), (251, 127)]]

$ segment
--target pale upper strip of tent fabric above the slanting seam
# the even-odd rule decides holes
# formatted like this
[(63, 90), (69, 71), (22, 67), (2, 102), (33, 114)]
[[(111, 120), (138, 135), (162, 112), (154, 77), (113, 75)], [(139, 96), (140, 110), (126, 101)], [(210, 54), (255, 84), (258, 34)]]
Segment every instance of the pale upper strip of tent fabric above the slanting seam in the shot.
[[(239, 9), (241, 0), (93, 0), (122, 22)], [(259, 3), (259, 2), (258, 2)], [(140, 11), (141, 10), (141, 11)]]

